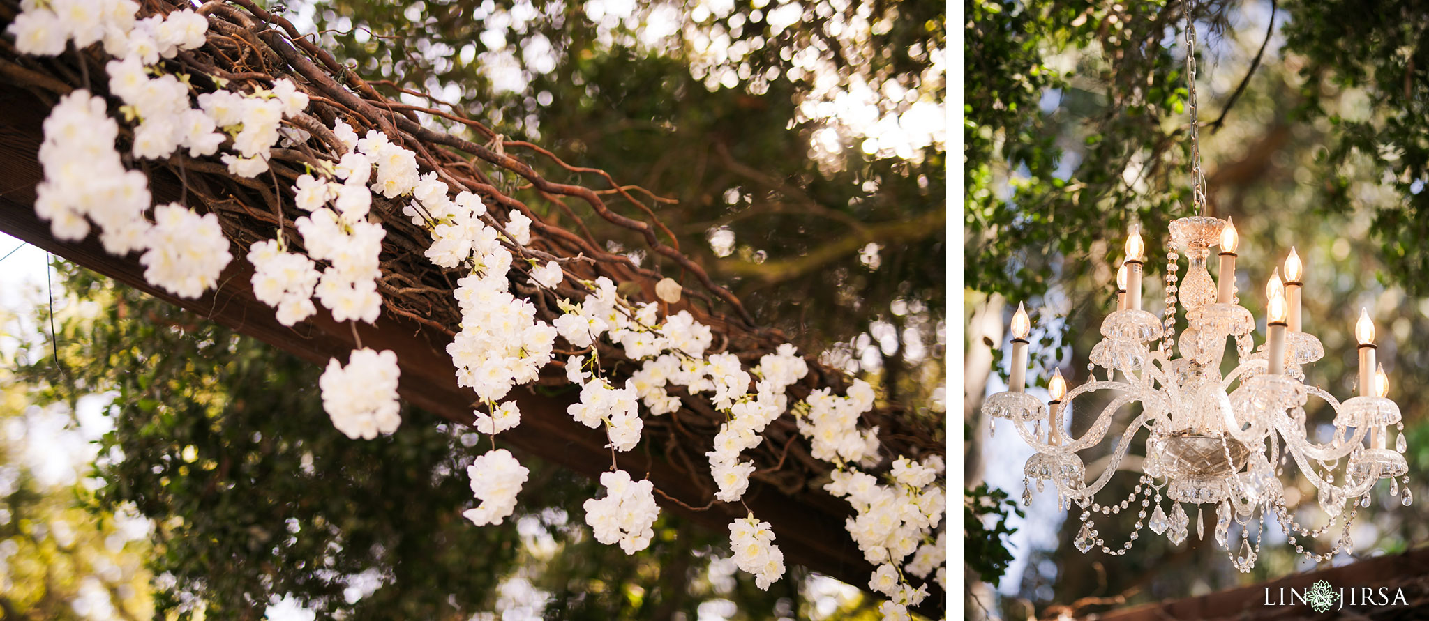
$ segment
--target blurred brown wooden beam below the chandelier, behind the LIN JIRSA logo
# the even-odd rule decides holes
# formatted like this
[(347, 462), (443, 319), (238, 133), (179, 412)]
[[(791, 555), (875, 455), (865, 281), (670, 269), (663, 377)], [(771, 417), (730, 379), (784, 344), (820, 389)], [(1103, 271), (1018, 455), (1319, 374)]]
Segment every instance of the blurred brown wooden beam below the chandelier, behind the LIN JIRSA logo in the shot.
[[(1306, 604), (1280, 605), (1282, 601), (1286, 604), (1290, 602), (1289, 592), (1292, 590), (1303, 594), (1305, 591), (1302, 590), (1309, 588), (1320, 580), (1329, 582), (1336, 590), (1373, 588), (1375, 594), (1368, 598), (1369, 604), (1362, 604), (1366, 601), (1363, 591), (1342, 595), (1346, 601), (1336, 601), (1335, 607), (1323, 614), (1315, 612)], [(1383, 602), (1379, 594), (1380, 587), (1388, 588), (1386, 595), (1389, 600), (1396, 597), (1396, 590), (1402, 590), (1403, 601)], [(1268, 605), (1268, 601), (1273, 605)], [(1380, 602), (1385, 605), (1379, 605)], [(1340, 608), (1342, 604), (1343, 608)], [(1429, 618), (1429, 548), (1410, 550), (1389, 557), (1366, 558), (1348, 565), (1296, 574), (1200, 597), (1087, 614), (1080, 618), (1087, 621)]]

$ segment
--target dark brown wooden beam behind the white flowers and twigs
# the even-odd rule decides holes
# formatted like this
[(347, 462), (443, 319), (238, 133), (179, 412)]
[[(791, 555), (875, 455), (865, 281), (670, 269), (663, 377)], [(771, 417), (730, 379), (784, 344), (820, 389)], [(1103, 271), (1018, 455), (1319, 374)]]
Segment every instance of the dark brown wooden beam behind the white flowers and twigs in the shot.
[[(326, 311), (294, 328), (279, 324), (273, 310), (253, 296), (249, 280), (253, 271), (242, 258), (246, 248), (233, 248), (236, 258), (223, 271), (217, 290), (197, 300), (184, 300), (146, 283), (137, 256), (110, 256), (94, 236), (80, 243), (56, 240), (49, 223), (34, 213), (34, 187), (43, 178), (37, 153), (47, 113), (49, 106), (31, 93), (0, 81), (0, 170), (4, 171), (0, 176), (0, 230), (303, 360), (314, 364), (327, 364), (332, 357), (346, 360), (354, 347), (350, 324), (333, 321)], [(150, 184), (156, 201), (179, 200), (181, 196), (177, 180), (153, 176)], [(203, 207), (196, 204), (193, 193), (189, 193), (187, 203)], [(383, 315), (376, 325), (360, 324), (357, 334), (363, 345), (397, 354), (400, 393), (407, 403), (460, 424), (472, 423), (476, 395), (456, 384), (456, 370), (446, 354), (446, 337), (392, 315)], [(522, 424), (502, 433), (502, 444), (587, 477), (597, 477), (610, 468), (612, 453), (604, 447), (604, 433), (586, 428), (566, 414), (566, 405), (574, 403), (574, 393), (546, 397), (517, 388), (513, 395), (522, 410)], [(702, 491), (712, 484), (709, 473), (699, 468), (703, 463), (690, 473), (659, 457), (663, 454), (659, 447), (649, 453), (656, 457), (643, 450), (616, 457), (620, 468), (636, 478), (649, 471), (654, 485), (680, 503), (700, 507), (709, 501)], [(745, 517), (745, 508), (737, 504), (714, 503), (706, 511), (694, 511), (679, 503), (657, 500), (664, 510), (720, 532), (727, 531), (733, 518)], [(847, 503), (822, 490), (787, 495), (759, 481), (750, 481), (745, 503), (760, 520), (773, 525), (789, 562), (859, 587), (867, 582), (873, 567), (863, 560), (843, 528), (845, 517), (853, 514)], [(940, 605), (940, 597), (937, 592), (929, 600), (937, 600)]]

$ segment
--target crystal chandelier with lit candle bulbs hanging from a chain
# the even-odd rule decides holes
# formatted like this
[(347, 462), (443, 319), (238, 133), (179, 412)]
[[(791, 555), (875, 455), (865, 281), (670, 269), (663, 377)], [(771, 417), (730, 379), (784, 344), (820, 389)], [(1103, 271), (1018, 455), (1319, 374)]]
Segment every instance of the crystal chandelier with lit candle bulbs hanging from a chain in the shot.
[[(1268, 518), (1279, 521), (1296, 552), (1319, 562), (1340, 550), (1353, 551), (1349, 527), (1358, 510), (1369, 507), (1370, 491), (1380, 478), (1390, 480), (1390, 495), (1405, 505), (1412, 503), (1399, 405), (1385, 397), (1389, 380), (1383, 367), (1376, 368), (1375, 325), (1363, 310), (1355, 325), (1359, 395), (1338, 401), (1305, 383), (1302, 367), (1323, 357), (1325, 350), (1315, 335), (1302, 331), (1303, 266), (1295, 248), (1285, 260), (1285, 278), (1276, 268), (1266, 286), (1266, 338), (1256, 347), (1256, 320), (1239, 304), (1235, 291), (1236, 228), (1230, 218), (1205, 216), (1205, 180), (1196, 144), (1196, 31), (1189, 6), (1186, 14), (1192, 196), (1200, 216), (1170, 223), (1163, 315), (1157, 318), (1142, 308), (1146, 248), (1133, 228), (1117, 270), (1117, 310), (1102, 323), (1103, 338), (1089, 355), (1090, 381), (1069, 391), (1056, 371), (1047, 383), (1050, 403), (1025, 391), (1032, 325), (1019, 304), (1012, 318), (1009, 390), (990, 395), (982, 411), (993, 424), (997, 418), (1009, 420), (1036, 450), (1025, 467), (1025, 504), (1030, 503), (1030, 485), (1036, 481), (1037, 490), (1046, 483), (1056, 488), (1059, 508), (1082, 510), (1082, 527), (1073, 540), (1082, 552), (1102, 548), (1105, 554), (1126, 554), (1143, 525), (1179, 545), (1189, 534), (1183, 505), (1190, 504), (1202, 514), (1206, 505), (1213, 505), (1216, 541), (1240, 571), (1255, 567)], [(1206, 266), (1213, 247), (1219, 247), (1219, 283)], [(1177, 253), (1189, 263), (1183, 280), (1176, 277)], [(1177, 303), (1187, 324), (1179, 335)], [(1238, 364), (1222, 374), (1226, 338), (1233, 340)], [(1097, 368), (1105, 371), (1105, 380), (1097, 380)], [(1073, 400), (1102, 391), (1110, 394), (1109, 403), (1082, 437), (1070, 437), (1065, 430)], [(1335, 433), (1328, 444), (1309, 437), (1305, 413), (1309, 398), (1323, 400), (1335, 411)], [(1106, 470), (1089, 481), (1077, 453), (1100, 444), (1113, 414), (1123, 408), (1139, 413), (1115, 438)], [(1386, 448), (1389, 425), (1400, 431), (1395, 450)], [(1146, 458), (1132, 494), (1112, 503), (1093, 500), (1142, 430), (1147, 430)], [(1329, 515), (1320, 527), (1299, 524), (1286, 507), (1280, 477), (1292, 460), (1318, 490), (1319, 507)], [(1163, 501), (1169, 504), (1163, 507)], [(1136, 511), (1136, 524), (1126, 542), (1116, 547), (1102, 537), (1095, 518), (1122, 511)], [(1205, 537), (1202, 514), (1196, 520), (1198, 537)], [(1232, 522), (1240, 527), (1239, 542), (1230, 537)], [(1308, 550), (1315, 538), (1333, 534), (1336, 527), (1339, 537), (1328, 552)]]

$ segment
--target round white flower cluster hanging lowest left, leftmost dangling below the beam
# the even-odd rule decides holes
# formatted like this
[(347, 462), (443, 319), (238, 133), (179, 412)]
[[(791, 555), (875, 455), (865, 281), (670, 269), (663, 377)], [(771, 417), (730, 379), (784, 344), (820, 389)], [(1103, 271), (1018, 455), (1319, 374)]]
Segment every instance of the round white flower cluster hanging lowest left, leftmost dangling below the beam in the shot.
[(317, 381), (323, 390), (323, 410), (333, 427), (349, 438), (376, 438), (379, 433), (397, 431), (397, 354), (392, 351), (353, 350), (347, 367), (337, 358)]

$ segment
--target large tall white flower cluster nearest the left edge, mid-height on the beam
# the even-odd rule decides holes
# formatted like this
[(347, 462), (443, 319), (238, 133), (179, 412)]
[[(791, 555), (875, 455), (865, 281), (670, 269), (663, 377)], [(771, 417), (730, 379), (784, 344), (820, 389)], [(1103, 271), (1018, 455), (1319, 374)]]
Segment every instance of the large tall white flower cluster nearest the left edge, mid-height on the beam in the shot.
[(143, 173), (124, 170), (117, 137), (119, 124), (104, 111), (104, 100), (86, 90), (61, 97), (44, 120), (44, 180), (36, 187), (34, 211), (50, 221), (56, 238), (83, 240), (94, 221), (104, 250), (144, 248), (149, 181)]

